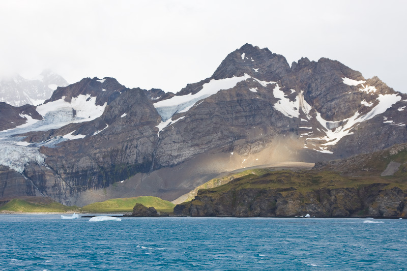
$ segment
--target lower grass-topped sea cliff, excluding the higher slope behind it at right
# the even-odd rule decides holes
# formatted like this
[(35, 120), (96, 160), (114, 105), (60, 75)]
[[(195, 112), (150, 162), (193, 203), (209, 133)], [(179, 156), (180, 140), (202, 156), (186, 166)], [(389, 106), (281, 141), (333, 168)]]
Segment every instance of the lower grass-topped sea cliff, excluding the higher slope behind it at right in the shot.
[(407, 184), (333, 172), (247, 175), (177, 205), (193, 217), (407, 217)]

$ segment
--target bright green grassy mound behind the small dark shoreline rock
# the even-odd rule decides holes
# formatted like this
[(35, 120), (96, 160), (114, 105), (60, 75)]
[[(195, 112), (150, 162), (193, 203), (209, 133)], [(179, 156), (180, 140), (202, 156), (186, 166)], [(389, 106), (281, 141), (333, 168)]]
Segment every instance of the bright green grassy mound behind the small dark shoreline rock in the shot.
[(136, 203), (146, 207), (154, 207), (158, 212), (172, 213), (175, 204), (153, 196), (116, 198), (102, 202), (95, 202), (83, 206), (81, 212), (102, 213), (102, 212), (132, 212)]

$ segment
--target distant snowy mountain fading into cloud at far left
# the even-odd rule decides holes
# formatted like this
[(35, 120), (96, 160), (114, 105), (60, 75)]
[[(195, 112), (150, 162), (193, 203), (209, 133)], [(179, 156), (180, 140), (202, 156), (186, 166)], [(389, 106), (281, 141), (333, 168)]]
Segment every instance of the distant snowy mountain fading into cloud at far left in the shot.
[(50, 70), (44, 70), (32, 79), (25, 79), (16, 74), (0, 79), (0, 102), (12, 106), (39, 105), (49, 99), (58, 86), (67, 85), (68, 82), (64, 78)]

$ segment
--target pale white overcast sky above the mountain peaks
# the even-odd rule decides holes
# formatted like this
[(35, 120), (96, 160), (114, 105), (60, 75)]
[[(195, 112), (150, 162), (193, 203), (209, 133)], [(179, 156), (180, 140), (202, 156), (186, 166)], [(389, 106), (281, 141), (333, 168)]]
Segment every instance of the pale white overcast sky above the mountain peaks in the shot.
[(245, 43), (336, 59), (407, 93), (407, 1), (0, 0), (0, 76), (50, 68), (178, 92)]

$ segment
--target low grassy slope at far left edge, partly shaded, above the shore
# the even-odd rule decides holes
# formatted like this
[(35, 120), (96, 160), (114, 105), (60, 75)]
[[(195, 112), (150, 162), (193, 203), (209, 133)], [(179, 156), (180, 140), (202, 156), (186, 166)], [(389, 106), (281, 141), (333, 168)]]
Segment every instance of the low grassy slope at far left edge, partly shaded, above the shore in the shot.
[(0, 206), (0, 211), (23, 213), (65, 213), (77, 212), (78, 209), (77, 206), (66, 206), (50, 198), (43, 197), (16, 198)]

